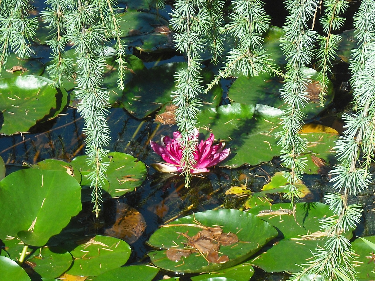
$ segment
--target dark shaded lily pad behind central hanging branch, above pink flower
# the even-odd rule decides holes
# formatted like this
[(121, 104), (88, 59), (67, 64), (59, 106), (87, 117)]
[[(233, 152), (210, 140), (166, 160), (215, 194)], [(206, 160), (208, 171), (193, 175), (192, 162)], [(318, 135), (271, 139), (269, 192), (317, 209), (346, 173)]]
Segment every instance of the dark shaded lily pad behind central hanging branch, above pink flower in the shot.
[[(185, 65), (185, 63), (166, 63), (138, 72), (133, 80), (126, 85), (122, 106), (135, 118), (150, 117), (172, 100), (172, 91), (176, 90), (175, 73)], [(203, 76), (202, 85), (213, 78), (213, 73), (209, 70), (204, 69), (201, 74)], [(147, 79), (147, 83), (145, 83), (145, 79)], [(202, 94), (200, 98), (205, 105), (201, 109), (218, 105), (221, 95), (221, 87), (214, 87), (207, 95)]]

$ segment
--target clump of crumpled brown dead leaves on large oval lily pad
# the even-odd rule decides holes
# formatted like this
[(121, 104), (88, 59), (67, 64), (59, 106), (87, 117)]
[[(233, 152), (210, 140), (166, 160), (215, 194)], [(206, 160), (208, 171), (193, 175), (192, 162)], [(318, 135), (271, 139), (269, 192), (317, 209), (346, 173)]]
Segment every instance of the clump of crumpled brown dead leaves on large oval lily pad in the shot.
[(166, 257), (175, 262), (178, 262), (181, 257), (188, 257), (191, 253), (198, 253), (207, 260), (208, 264), (226, 263), (229, 261), (229, 257), (226, 255), (219, 256), (220, 246), (232, 245), (239, 241), (235, 233), (223, 233), (219, 226), (204, 227), (193, 237), (190, 237), (187, 232), (178, 234), (187, 239), (186, 248), (172, 248), (165, 252)]

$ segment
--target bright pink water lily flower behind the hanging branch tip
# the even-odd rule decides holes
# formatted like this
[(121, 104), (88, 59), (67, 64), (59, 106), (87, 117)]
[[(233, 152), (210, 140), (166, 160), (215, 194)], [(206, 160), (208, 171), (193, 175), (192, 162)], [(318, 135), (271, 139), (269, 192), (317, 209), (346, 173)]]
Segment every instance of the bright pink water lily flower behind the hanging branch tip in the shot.
[[(192, 135), (192, 139), (198, 138), (198, 135), (198, 130), (196, 130)], [(181, 173), (183, 171), (181, 164), (182, 148), (178, 142), (180, 138), (180, 132), (174, 132), (173, 139), (165, 136), (161, 139), (161, 145), (150, 141), (151, 148), (166, 162), (154, 163), (152, 166), (156, 170), (165, 173)], [(212, 145), (213, 141), (214, 135), (210, 134), (207, 141), (201, 141), (198, 144), (196, 151), (193, 153), (196, 163), (193, 164), (193, 168), (190, 170), (191, 173), (209, 172), (210, 170), (208, 170), (207, 167), (212, 167), (228, 157), (230, 149), (223, 149), (225, 143), (220, 142), (219, 144)]]

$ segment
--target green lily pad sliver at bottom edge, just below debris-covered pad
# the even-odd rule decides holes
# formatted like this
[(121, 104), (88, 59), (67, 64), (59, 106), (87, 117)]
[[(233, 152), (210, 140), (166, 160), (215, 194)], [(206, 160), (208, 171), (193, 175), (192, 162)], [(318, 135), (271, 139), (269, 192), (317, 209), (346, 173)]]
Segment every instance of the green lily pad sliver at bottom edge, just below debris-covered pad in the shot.
[[(236, 281), (249, 281), (254, 274), (254, 268), (249, 263), (232, 266), (231, 268), (220, 269), (207, 274), (200, 274), (190, 279), (192, 281), (204, 281), (207, 278), (229, 278)], [(225, 279), (223, 279), (225, 281)], [(227, 279), (228, 280), (228, 279)]]

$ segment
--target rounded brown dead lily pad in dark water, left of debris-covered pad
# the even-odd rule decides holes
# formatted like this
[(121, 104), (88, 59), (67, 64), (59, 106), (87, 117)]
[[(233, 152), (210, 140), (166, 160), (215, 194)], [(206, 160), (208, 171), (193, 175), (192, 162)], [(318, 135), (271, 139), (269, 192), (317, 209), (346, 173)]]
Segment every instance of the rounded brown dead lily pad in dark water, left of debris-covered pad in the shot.
[(104, 230), (108, 236), (123, 239), (128, 243), (135, 242), (144, 232), (146, 223), (136, 209), (122, 202), (115, 202), (116, 215), (113, 225)]

